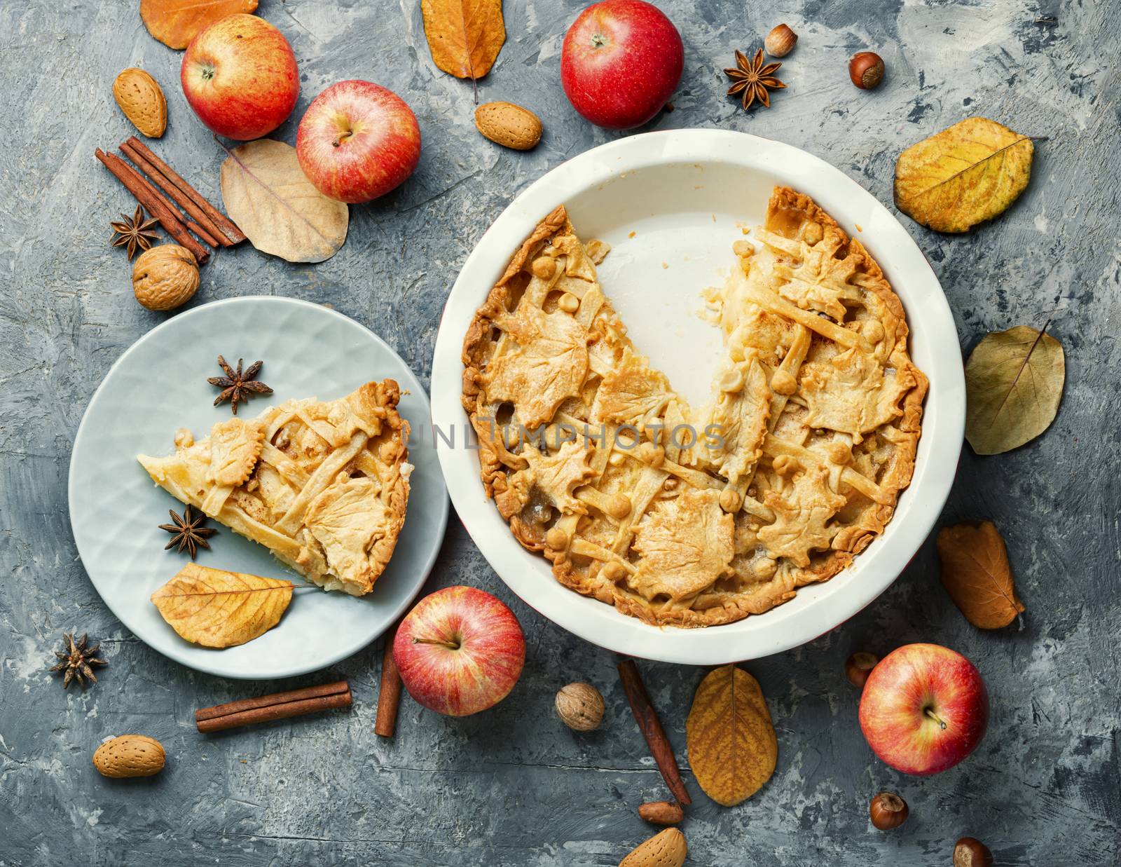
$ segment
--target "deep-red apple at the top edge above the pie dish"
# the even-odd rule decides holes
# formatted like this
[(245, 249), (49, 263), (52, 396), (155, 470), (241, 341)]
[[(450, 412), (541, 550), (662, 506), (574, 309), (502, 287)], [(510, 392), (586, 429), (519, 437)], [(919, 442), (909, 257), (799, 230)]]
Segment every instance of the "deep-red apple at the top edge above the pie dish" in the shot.
[(560, 48), (560, 84), (573, 108), (609, 129), (646, 123), (685, 67), (682, 37), (656, 6), (603, 0), (581, 12)]

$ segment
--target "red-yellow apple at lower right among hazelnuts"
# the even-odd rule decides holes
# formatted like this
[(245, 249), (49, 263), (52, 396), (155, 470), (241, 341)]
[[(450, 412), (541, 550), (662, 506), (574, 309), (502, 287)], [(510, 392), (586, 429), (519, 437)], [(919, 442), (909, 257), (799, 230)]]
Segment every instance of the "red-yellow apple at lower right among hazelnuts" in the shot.
[(881, 759), (928, 776), (972, 753), (989, 725), (989, 693), (969, 660), (936, 644), (908, 644), (872, 668), (860, 728)]

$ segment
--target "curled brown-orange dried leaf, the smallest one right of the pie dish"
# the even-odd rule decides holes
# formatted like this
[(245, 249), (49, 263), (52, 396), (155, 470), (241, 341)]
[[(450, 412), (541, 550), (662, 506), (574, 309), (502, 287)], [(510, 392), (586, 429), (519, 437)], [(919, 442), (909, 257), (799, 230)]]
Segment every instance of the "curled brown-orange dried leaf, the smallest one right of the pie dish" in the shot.
[(938, 531), (942, 585), (979, 629), (1008, 626), (1023, 611), (1008, 550), (991, 520)]

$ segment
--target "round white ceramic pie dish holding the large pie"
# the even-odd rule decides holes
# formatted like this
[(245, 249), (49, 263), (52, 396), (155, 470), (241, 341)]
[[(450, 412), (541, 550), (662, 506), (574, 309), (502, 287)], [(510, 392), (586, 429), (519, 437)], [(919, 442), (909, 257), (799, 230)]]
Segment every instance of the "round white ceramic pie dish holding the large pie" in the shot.
[[(479, 478), (460, 403), (461, 348), (471, 317), (513, 250), (549, 211), (565, 204), (586, 242), (608, 241), (597, 268), (638, 351), (694, 406), (708, 396), (721, 354), (719, 330), (703, 321), (701, 289), (734, 266), (732, 242), (763, 222), (775, 185), (812, 196), (883, 268), (907, 310), (910, 350), (929, 377), (915, 476), (886, 533), (832, 580), (734, 624), (657, 627), (582, 597), (553, 578), (549, 563), (518, 544)], [(594, 644), (619, 653), (695, 665), (785, 651), (843, 622), (896, 579), (926, 538), (949, 492), (965, 424), (957, 332), (921, 251), (870, 193), (790, 145), (717, 130), (624, 138), (582, 154), (525, 190), (467, 257), (444, 308), (432, 375), (437, 453), (452, 502), (502, 580), (527, 605)], [(454, 434), (454, 441), (451, 436)]]

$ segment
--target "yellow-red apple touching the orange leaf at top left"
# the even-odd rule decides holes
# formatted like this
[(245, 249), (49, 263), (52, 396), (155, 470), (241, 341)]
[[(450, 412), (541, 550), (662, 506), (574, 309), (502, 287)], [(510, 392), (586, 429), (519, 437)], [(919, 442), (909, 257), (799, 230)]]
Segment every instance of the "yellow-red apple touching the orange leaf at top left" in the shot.
[(179, 79), (198, 119), (241, 141), (284, 123), (299, 96), (291, 46), (254, 15), (231, 15), (200, 30), (183, 55)]

